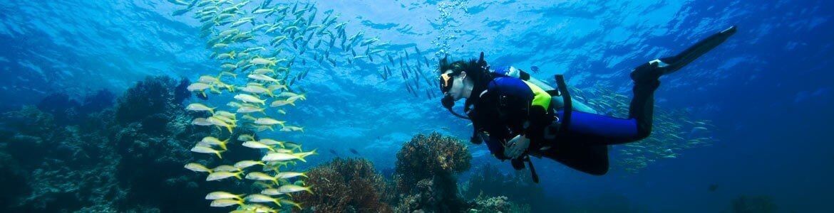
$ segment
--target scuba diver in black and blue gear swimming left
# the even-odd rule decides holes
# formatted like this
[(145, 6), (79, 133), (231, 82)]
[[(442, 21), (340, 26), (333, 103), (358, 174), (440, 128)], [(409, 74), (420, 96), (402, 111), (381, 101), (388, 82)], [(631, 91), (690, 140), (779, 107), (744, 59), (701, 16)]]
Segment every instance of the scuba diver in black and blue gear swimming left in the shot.
[[(498, 159), (510, 160), (516, 170), (530, 166), (530, 156), (559, 161), (596, 176), (608, 171), (608, 147), (640, 141), (651, 133), (654, 92), (659, 78), (676, 72), (725, 42), (736, 27), (713, 34), (674, 57), (661, 57), (631, 71), (634, 97), (628, 118), (595, 114), (590, 107), (570, 100), (564, 78), (557, 75), (558, 90), (515, 67), (490, 69), (484, 60), (440, 60), (440, 91), (443, 106), (455, 116), (472, 121), (471, 141), (486, 141)], [(561, 97), (561, 98), (557, 98)], [(452, 110), (465, 98), (465, 116)]]

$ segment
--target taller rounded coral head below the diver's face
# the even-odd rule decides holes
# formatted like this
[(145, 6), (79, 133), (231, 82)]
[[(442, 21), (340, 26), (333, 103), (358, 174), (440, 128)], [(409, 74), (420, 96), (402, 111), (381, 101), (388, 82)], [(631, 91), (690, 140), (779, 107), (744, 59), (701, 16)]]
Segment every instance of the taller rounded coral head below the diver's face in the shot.
[(400, 194), (396, 212), (460, 212), (469, 206), (457, 190), (455, 174), (470, 168), (466, 146), (438, 133), (417, 135), (397, 152), (394, 181)]

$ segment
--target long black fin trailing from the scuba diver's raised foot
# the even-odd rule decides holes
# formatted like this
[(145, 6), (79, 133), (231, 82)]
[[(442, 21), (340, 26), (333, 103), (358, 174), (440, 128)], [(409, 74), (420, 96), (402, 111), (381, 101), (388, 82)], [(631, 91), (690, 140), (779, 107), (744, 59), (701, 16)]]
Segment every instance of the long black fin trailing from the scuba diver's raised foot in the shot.
[(657, 63), (657, 67), (663, 68), (662, 70), (664, 75), (676, 72), (681, 69), (681, 67), (684, 67), (690, 62), (695, 61), (698, 57), (703, 56), (706, 52), (710, 52), (713, 48), (718, 47), (718, 45), (721, 45), (721, 43), (725, 42), (727, 38), (731, 37), (733, 34), (736, 34), (736, 26), (729, 27), (726, 30), (711, 35), (710, 37), (706, 37), (704, 40), (686, 48), (685, 51), (678, 53), (674, 57), (664, 57), (649, 63)]

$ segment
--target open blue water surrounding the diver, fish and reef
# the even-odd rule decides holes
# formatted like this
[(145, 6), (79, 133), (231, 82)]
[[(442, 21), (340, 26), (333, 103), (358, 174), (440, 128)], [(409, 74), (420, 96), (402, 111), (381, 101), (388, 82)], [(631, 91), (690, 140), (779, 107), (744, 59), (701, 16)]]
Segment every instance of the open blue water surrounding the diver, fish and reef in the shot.
[[(441, 50), (455, 59), (485, 52), (490, 64), (536, 66), (541, 72), (534, 77), (564, 73), (574, 87), (623, 95), (631, 92), (632, 67), (736, 25), (735, 37), (662, 78), (656, 92), (658, 107), (713, 121), (718, 141), (636, 173), (612, 167), (590, 176), (537, 160), (540, 186), (560, 201), (616, 195), (651, 212), (726, 211), (742, 195), (770, 196), (784, 212), (834, 211), (834, 140), (827, 135), (834, 131), (834, 2), (311, 2), (319, 12), (340, 13), (338, 22), (349, 21), (348, 35), (379, 37), (391, 43), (386, 52), (414, 54), (419, 47), (432, 66)], [(53, 92), (121, 94), (148, 75), (195, 82), (216, 73), (219, 62), (209, 58), (198, 20), (172, 15), (181, 7), (146, 0), (0, 1), (0, 110), (36, 104)], [(394, 153), (414, 134), (470, 136), (471, 127), (446, 112), (439, 97), (415, 98), (399, 75), (377, 76), (387, 63), (377, 57), (302, 66), (311, 71), (296, 85), (308, 100), (286, 118), (304, 126), (304, 134), (290, 138), (319, 148), (311, 165), (333, 158), (329, 149), (340, 155), (355, 149), (381, 170), (394, 166)], [(511, 170), (483, 145), (470, 152), (473, 166), (490, 162)], [(718, 188), (710, 191), (711, 185)]]

